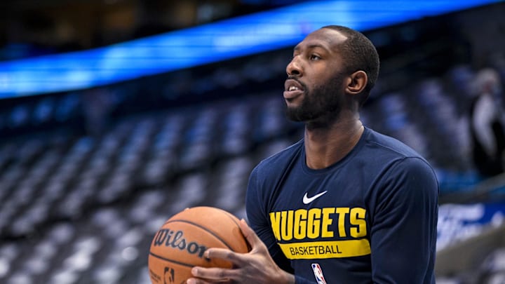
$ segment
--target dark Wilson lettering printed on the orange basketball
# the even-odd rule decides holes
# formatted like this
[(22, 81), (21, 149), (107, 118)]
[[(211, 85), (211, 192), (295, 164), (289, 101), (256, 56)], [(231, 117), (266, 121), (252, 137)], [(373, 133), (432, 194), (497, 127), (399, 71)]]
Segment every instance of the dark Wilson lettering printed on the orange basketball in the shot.
[(190, 255), (198, 255), (203, 258), (203, 252), (207, 250), (205, 245), (200, 245), (194, 241), (187, 241), (183, 231), (173, 231), (170, 229), (160, 229), (154, 236), (153, 245), (155, 247), (165, 246), (177, 250), (185, 250)]

